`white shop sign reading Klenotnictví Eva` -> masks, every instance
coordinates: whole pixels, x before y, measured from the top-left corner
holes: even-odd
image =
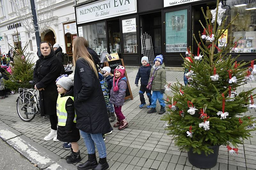
[[[137,0],[101,0],[76,7],[77,24],[137,12]]]

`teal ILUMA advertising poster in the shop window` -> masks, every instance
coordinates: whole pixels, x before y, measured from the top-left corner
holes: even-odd
[[[187,9],[165,13],[166,53],[187,50],[187,25]]]

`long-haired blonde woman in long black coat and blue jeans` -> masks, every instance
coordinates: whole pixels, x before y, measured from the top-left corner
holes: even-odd
[[[102,134],[112,131],[108,120],[108,111],[101,90],[98,70],[92,56],[86,49],[88,42],[84,37],[73,40],[73,64],[76,65],[74,74],[74,105],[76,110],[76,127],[84,138],[87,147],[88,160],[77,169],[108,168],[107,153]],[[99,164],[95,155],[95,146],[99,152]]]

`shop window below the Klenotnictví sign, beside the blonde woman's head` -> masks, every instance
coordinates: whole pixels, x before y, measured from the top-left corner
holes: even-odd
[[[105,22],[83,26],[83,35],[98,55],[107,51],[107,37]]]

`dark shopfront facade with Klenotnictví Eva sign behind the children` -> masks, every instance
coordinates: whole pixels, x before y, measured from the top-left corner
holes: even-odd
[[[227,42],[232,37],[237,40],[237,61],[250,61],[256,54],[256,0],[224,0],[226,9],[222,21],[228,16],[228,23],[240,15],[223,35]],[[201,7],[207,18],[212,18],[211,10],[216,8],[216,0],[77,0],[75,6],[76,25],[79,36],[89,42],[100,55],[103,51],[118,53],[125,65],[139,66],[143,53],[149,52],[152,39],[154,56],[163,54],[169,67],[181,67],[188,46],[196,53],[197,45],[193,34],[199,39],[203,33],[199,20],[205,26]],[[207,10],[209,6],[209,10]],[[141,35],[146,44],[141,43]],[[207,44],[207,43],[206,43]],[[210,43],[209,43],[210,44]],[[218,43],[219,48],[227,45]],[[145,48],[142,48],[145,47]]]

